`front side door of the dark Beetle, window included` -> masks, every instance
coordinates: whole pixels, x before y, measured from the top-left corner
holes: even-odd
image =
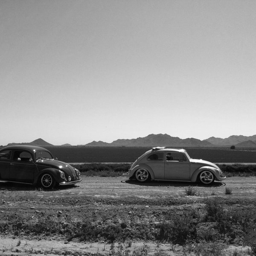
[[[28,151],[14,151],[10,163],[9,180],[22,183],[33,183],[37,170],[32,155]]]

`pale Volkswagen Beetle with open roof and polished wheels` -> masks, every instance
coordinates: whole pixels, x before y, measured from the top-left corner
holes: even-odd
[[[192,159],[185,149],[152,148],[140,156],[126,176],[139,182],[148,180],[177,180],[209,185],[226,177],[214,163]]]

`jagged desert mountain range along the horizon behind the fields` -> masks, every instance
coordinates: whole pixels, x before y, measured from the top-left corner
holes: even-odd
[[[9,145],[35,145],[35,146],[54,146],[43,139],[37,139],[30,143],[9,143]],[[70,144],[63,144],[61,146],[71,146]],[[93,141],[85,145],[77,145],[83,147],[152,147],[152,146],[166,146],[166,147],[230,147],[236,148],[256,148],[256,135],[243,136],[232,135],[228,138],[210,137],[206,140],[198,140],[195,138],[180,139],[179,137],[172,137],[168,134],[149,134],[146,137],[139,137],[137,139],[119,139],[112,143],[103,141]]]

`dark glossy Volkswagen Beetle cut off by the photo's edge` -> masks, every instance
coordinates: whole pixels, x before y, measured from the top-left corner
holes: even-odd
[[[31,145],[7,146],[0,151],[0,180],[38,185],[72,185],[81,181],[78,169],[54,160],[50,151]]]

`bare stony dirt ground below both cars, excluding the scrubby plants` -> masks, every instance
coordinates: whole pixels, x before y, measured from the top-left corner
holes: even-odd
[[[195,196],[186,195],[185,189],[189,186],[195,188]],[[225,193],[226,188],[232,190],[230,195]],[[201,209],[208,197],[221,198],[226,207],[241,212],[248,207],[256,208],[256,177],[229,177],[225,183],[215,182],[213,186],[157,181],[144,184],[125,177],[84,177],[75,186],[49,191],[0,183],[0,255],[113,255],[113,244],[107,241],[67,240],[64,233],[35,235],[26,233],[22,228],[15,232],[9,227],[15,223],[17,226],[24,225],[19,224],[21,219],[32,222],[44,216],[70,219],[74,223],[83,221],[87,216],[92,216],[99,223],[117,217],[119,221],[127,221],[128,218],[154,221],[166,211],[180,212],[181,208],[186,207]],[[247,234],[243,243],[228,244],[226,255],[231,255],[230,252],[235,250],[247,251],[247,242],[252,239],[255,239],[255,232]],[[160,244],[143,237],[140,241],[131,240],[129,250],[132,252],[145,245],[150,255],[160,255],[160,252],[165,255],[185,255],[182,246]],[[120,244],[115,243],[114,246],[118,248]]]

